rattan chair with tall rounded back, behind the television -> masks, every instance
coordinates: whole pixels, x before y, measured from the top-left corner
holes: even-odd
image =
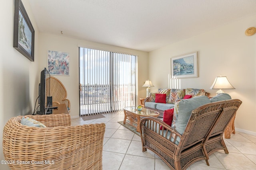
[[[49,92],[50,81],[50,92]],[[66,99],[67,91],[65,86],[55,77],[46,78],[46,92],[45,95],[52,96],[52,104],[66,104],[68,110],[70,110],[70,101]]]

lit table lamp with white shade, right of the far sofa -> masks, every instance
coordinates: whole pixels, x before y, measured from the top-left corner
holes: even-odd
[[[218,76],[215,78],[210,89],[219,89],[216,92],[216,94],[218,95],[218,94],[224,93],[222,89],[235,89],[235,88],[230,84],[226,76]]]

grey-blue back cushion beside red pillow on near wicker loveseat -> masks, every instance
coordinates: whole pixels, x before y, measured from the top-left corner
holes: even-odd
[[[174,105],[172,128],[176,129],[176,131],[182,135],[192,110],[208,103],[210,103],[210,99],[206,96],[198,96],[189,100],[177,101]]]

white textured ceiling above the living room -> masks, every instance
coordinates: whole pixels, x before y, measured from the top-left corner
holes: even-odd
[[[256,0],[29,0],[40,32],[152,51],[256,14]],[[247,27],[256,26],[256,23]]]

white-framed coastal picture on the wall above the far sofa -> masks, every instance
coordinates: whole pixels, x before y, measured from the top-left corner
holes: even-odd
[[[171,78],[197,77],[197,51],[171,58]]]

